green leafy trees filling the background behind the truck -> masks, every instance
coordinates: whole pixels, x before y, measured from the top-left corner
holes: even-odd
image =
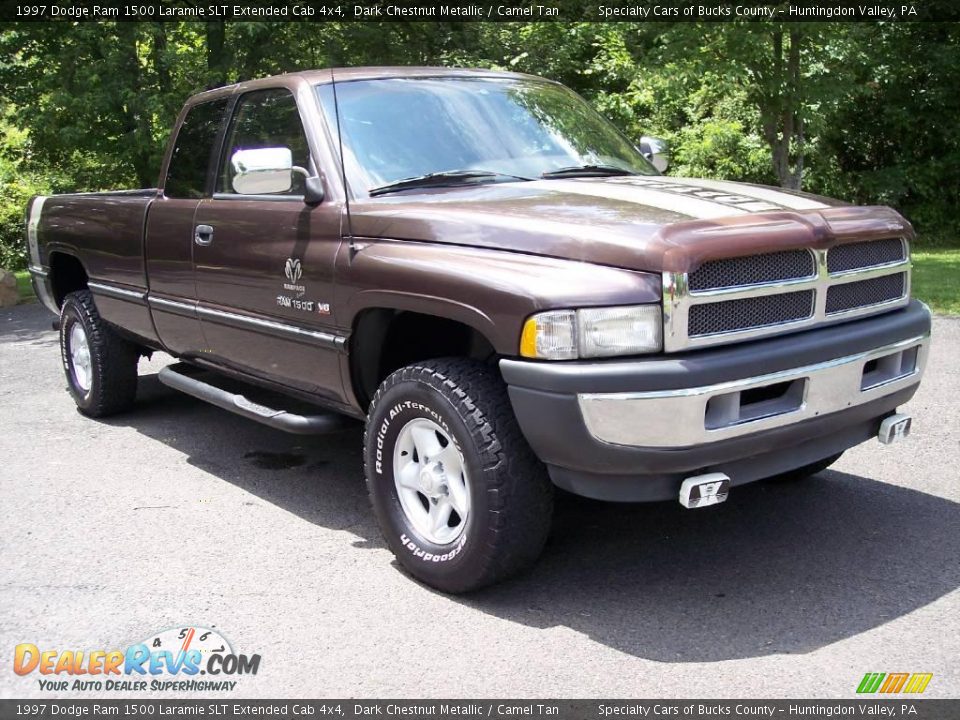
[[[183,100],[311,67],[459,65],[556,79],[671,173],[890,204],[960,230],[955,23],[6,23],[0,263],[37,192],[151,186]]]

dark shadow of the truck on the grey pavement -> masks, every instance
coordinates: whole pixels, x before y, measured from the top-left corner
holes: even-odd
[[[359,425],[319,438],[285,435],[155,376],[141,381],[136,411],[110,424],[303,520],[349,530],[355,547],[383,547]],[[735,488],[724,505],[699,511],[560,494],[550,542],[530,573],[450,601],[530,627],[567,627],[660,662],[806,653],[960,586],[958,527],[957,503],[836,471]]]

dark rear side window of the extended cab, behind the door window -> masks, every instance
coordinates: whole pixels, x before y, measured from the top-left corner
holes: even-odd
[[[194,105],[180,125],[170,156],[163,192],[172,198],[202,198],[207,191],[207,172],[214,159],[217,134],[227,110],[228,98]]]

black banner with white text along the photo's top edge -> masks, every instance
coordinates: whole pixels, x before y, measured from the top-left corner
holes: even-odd
[[[20,22],[929,22],[960,21],[952,0],[0,0]]]

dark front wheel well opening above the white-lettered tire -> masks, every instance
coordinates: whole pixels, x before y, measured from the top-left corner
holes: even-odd
[[[366,408],[380,383],[405,365],[438,357],[490,360],[495,355],[489,340],[456,320],[385,308],[367,310],[350,337],[353,390]]]

